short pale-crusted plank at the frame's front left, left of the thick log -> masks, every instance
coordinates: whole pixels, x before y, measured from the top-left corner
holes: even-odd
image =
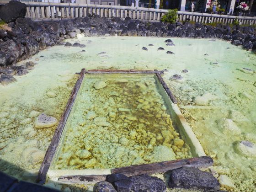
[[[79,183],[84,181],[105,181],[107,175],[80,175],[80,176],[61,176],[58,181]]]

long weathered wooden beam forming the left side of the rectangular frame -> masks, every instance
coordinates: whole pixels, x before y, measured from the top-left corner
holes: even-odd
[[[43,163],[42,163],[42,165],[40,167],[40,170],[38,172],[37,183],[39,183],[39,184],[43,184],[46,181],[47,171],[50,167],[51,161],[53,160],[53,156],[55,154],[55,151],[56,151],[56,149],[59,145],[59,140],[61,138],[61,134],[63,132],[63,129],[65,127],[67,119],[69,117],[69,113],[70,113],[70,111],[73,107],[77,92],[80,88],[80,85],[81,85],[83,79],[84,79],[84,75],[85,75],[85,69],[82,69],[81,72],[80,72],[80,77],[76,81],[75,87],[73,88],[73,91],[71,92],[71,95],[69,96],[69,101],[67,102],[64,113],[62,114],[62,116],[60,118],[58,127],[55,130],[55,133],[53,135],[53,139],[51,141],[51,144],[49,145],[49,147],[46,151],[46,154],[45,154],[44,159],[43,159]]]

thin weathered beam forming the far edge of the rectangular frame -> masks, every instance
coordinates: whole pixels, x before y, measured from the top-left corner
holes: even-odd
[[[106,73],[106,74],[110,74],[110,73],[138,73],[138,74],[163,74],[164,71],[152,71],[152,70],[105,70],[105,69],[92,69],[92,70],[88,70],[85,73],[88,74],[94,74],[94,73]]]

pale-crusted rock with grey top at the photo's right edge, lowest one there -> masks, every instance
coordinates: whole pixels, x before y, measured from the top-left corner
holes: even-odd
[[[240,141],[235,145],[235,151],[240,155],[256,157],[256,145],[250,141]]]

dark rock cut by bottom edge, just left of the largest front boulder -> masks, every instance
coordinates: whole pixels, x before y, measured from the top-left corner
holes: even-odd
[[[165,192],[165,182],[155,176],[131,176],[133,192]]]

